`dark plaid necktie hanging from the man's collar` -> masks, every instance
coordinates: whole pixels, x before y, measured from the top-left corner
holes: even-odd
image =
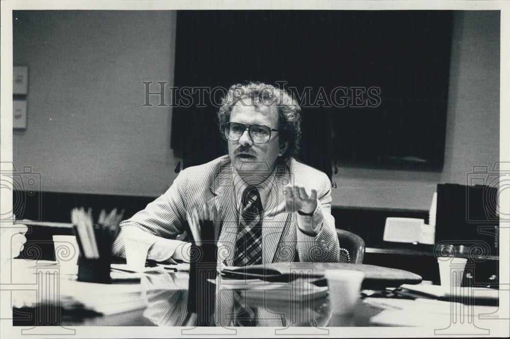
[[[234,266],[262,264],[263,210],[256,186],[248,186],[244,190],[242,206]]]

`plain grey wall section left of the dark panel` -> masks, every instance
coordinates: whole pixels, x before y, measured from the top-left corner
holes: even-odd
[[[16,168],[41,173],[44,191],[163,193],[171,109],[142,107],[142,82],[172,85],[175,23],[174,11],[15,12],[13,62],[30,72]]]

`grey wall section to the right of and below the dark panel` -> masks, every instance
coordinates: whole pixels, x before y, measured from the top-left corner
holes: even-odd
[[[339,168],[335,205],[428,210],[438,183],[468,183],[473,166],[491,170],[499,159],[498,11],[458,11],[453,36],[440,173]]]

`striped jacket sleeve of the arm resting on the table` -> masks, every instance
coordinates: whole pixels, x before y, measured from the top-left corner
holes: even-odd
[[[150,247],[159,238],[175,239],[179,234],[182,234],[185,230],[185,223],[187,223],[187,181],[187,171],[184,170],[175,178],[172,186],[163,195],[149,203],[144,210],[132,218],[122,221],[120,232],[112,246],[112,254],[120,257],[125,256],[124,240],[126,238],[139,239]],[[140,230],[144,233],[141,233]]]

